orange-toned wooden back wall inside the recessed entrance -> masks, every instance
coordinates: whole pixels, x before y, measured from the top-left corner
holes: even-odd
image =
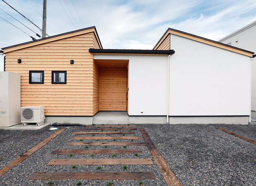
[[[126,68],[99,68],[100,110],[126,110]]]

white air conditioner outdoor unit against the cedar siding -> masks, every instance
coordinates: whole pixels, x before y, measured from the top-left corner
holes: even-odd
[[[44,107],[21,107],[20,112],[23,126],[28,125],[28,123],[37,123],[37,126],[43,125]]]

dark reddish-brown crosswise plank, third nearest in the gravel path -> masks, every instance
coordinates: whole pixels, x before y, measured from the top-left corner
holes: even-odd
[[[51,154],[142,154],[141,150],[129,149],[56,149]]]

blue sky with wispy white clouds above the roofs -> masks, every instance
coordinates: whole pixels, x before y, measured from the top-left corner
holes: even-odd
[[[42,27],[43,0],[5,1],[40,28]],[[41,35],[37,27],[28,23],[2,1],[0,8]],[[28,35],[39,39],[35,33],[2,10],[0,10],[1,17]],[[31,40],[28,35],[1,17],[0,48]],[[168,27],[219,40],[253,21],[256,21],[256,0],[48,0],[47,2],[49,36],[96,26],[104,49],[152,49]],[[3,56],[0,56],[1,70],[3,70]]]

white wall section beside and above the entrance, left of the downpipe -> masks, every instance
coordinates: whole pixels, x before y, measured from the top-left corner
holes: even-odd
[[[93,59],[129,59],[128,114],[139,116],[166,115],[167,57],[93,54]]]

